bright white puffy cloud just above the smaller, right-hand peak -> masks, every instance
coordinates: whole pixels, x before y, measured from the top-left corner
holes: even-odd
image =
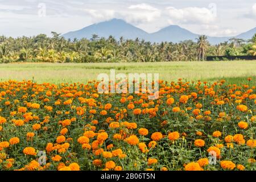
[[[167,14],[169,22],[174,24],[209,24],[216,20],[216,13],[205,7],[185,7],[184,9],[167,7]]]

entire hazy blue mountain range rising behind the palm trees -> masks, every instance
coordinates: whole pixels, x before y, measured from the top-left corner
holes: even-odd
[[[100,37],[108,38],[110,35],[114,36],[114,38],[119,39],[121,36],[124,39],[144,39],[150,42],[173,42],[177,43],[184,40],[193,40],[195,41],[198,38],[199,34],[194,34],[191,31],[186,30],[185,28],[181,28],[176,25],[171,25],[161,30],[154,32],[152,34],[147,33],[146,31],[141,30],[129,23],[126,23],[122,19],[112,19],[106,22],[92,24],[88,27],[82,28],[81,30],[68,32],[67,34],[63,34],[62,36],[65,39],[74,38],[77,39],[90,39],[92,35],[96,34]],[[208,36],[208,40],[210,44],[218,44],[221,42],[228,41],[230,38],[240,38],[240,39],[251,39],[253,35],[256,34],[256,27],[244,32],[240,35],[234,37],[213,37]]]

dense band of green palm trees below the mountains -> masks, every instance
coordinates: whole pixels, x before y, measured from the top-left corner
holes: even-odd
[[[116,40],[113,36],[105,39],[97,35],[92,35],[90,40],[65,40],[56,32],[52,32],[52,38],[44,34],[30,38],[0,36],[0,63],[195,61],[204,60],[207,55],[256,55],[256,34],[249,41],[233,38],[215,46],[210,45],[204,35],[195,41],[157,44],[139,39]]]

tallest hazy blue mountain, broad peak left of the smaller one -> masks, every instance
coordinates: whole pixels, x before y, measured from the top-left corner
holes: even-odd
[[[92,24],[88,27],[82,28],[81,30],[68,32],[64,34],[64,38],[73,40],[74,38],[92,38],[92,35],[96,34],[100,37],[108,38],[110,35],[114,38],[119,39],[123,36],[125,39],[136,39],[144,38],[147,36],[147,32],[134,27],[133,25],[126,23],[121,19],[112,19],[107,22],[101,22]]]

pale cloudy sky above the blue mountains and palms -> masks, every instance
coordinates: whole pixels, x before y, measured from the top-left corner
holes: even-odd
[[[233,36],[256,27],[255,0],[0,0],[0,35],[66,33],[112,18],[147,32],[177,24]]]

